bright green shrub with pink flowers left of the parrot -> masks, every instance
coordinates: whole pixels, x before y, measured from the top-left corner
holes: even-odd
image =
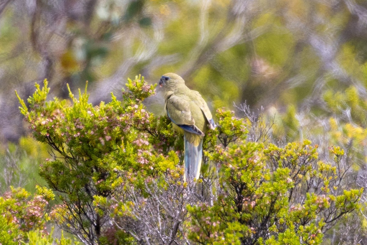
[[[124,191],[127,183],[142,189],[179,162],[167,120],[154,117],[142,104],[154,94],[155,85],[137,76],[126,86],[124,100],[111,94],[111,102],[97,106],[88,102],[87,86],[78,96],[68,87],[70,100],[47,102],[47,80],[42,88],[36,84],[29,108],[18,97],[35,138],[52,149],[50,159],[40,166],[40,176],[61,200],[51,216],[91,243],[101,235],[99,222],[109,216],[112,203],[107,197]],[[162,148],[171,153],[163,155]],[[37,192],[47,201],[54,199],[49,189],[37,187]]]

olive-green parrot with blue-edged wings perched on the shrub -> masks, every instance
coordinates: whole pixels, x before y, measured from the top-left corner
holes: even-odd
[[[175,73],[164,74],[159,85],[164,89],[164,110],[175,131],[183,134],[184,178],[199,179],[204,133],[207,125],[215,128],[208,105],[199,92],[186,87],[182,77]]]

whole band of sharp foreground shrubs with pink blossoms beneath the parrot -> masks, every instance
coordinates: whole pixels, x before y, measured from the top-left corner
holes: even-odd
[[[83,244],[321,244],[363,206],[343,149],[324,152],[306,139],[276,145],[272,121],[244,107],[245,118],[217,110],[202,174],[190,183],[182,136],[142,103],[155,85],[136,77],[123,100],[112,94],[98,106],[87,91],[47,101],[47,85],[36,84],[28,105],[19,98],[34,137],[50,146],[39,168],[47,188],[1,198],[1,243],[51,244],[44,225],[52,221]]]

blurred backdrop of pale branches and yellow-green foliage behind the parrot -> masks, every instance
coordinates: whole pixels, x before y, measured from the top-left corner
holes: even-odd
[[[44,78],[63,98],[66,83],[88,80],[95,104],[127,77],[175,72],[213,110],[246,100],[273,114],[340,114],[348,105],[333,99],[345,91],[364,110],[366,16],[359,0],[3,0],[0,136],[26,133],[13,91],[27,97]],[[163,114],[162,100],[148,107]]]

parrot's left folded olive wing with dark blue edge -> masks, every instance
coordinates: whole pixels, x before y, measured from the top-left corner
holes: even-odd
[[[189,133],[204,135],[204,133],[195,126],[195,120],[191,115],[188,98],[172,94],[167,98],[166,111],[167,116],[178,127]]]

